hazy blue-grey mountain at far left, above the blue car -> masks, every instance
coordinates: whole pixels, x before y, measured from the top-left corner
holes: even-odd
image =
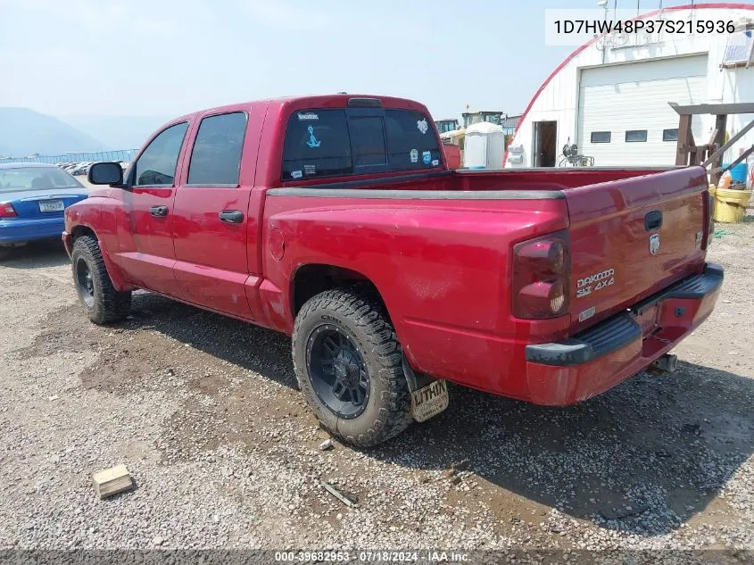
[[[0,157],[103,149],[110,147],[52,116],[29,108],[0,108]]]

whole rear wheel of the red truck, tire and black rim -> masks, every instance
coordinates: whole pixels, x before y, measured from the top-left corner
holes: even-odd
[[[371,447],[409,427],[401,345],[369,295],[337,288],[312,297],[296,316],[293,356],[306,402],[334,436]]]

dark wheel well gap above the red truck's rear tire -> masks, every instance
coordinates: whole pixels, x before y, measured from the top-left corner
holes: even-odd
[[[357,286],[373,295],[382,305],[385,315],[388,316],[388,319],[390,318],[385,301],[375,284],[356,270],[333,265],[303,265],[296,270],[292,285],[294,316],[298,314],[303,304],[314,295],[319,295],[319,293],[331,288]]]

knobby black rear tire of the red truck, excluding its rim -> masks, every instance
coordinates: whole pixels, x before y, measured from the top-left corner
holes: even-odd
[[[369,399],[352,419],[339,418],[316,394],[307,366],[307,347],[316,328],[335,325],[356,344],[369,375]],[[322,426],[345,443],[371,447],[397,436],[413,421],[401,345],[382,305],[368,293],[336,288],[313,296],[296,316],[294,370],[306,402]]]

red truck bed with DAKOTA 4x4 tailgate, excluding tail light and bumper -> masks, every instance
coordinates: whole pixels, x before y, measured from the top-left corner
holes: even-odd
[[[290,331],[285,273],[327,254],[374,282],[416,370],[527,398],[497,365],[513,350],[568,339],[704,270],[706,191],[701,168],[443,171],[273,188],[265,231],[297,243],[266,262],[261,303]],[[659,226],[645,225],[658,213]],[[558,230],[569,242],[568,313],[519,319],[512,247]]]

